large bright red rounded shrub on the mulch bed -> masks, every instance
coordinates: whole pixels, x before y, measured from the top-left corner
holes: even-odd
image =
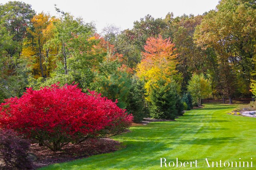
[[[118,134],[132,115],[96,92],[81,92],[77,85],[53,84],[40,90],[28,88],[21,98],[0,106],[0,129],[13,129],[52,150],[69,142]]]

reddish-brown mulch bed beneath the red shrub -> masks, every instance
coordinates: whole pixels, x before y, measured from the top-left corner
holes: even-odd
[[[46,147],[32,144],[30,152],[35,154],[38,159],[33,162],[33,169],[47,166],[54,163],[67,162],[79,158],[86,158],[95,154],[114,152],[123,148],[118,141],[109,138],[88,139],[79,145],[68,144],[62,150],[53,152]],[[0,170],[9,170],[0,160]]]

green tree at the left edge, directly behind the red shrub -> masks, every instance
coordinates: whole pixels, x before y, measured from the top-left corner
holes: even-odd
[[[15,59],[6,51],[13,45],[12,36],[6,27],[0,27],[0,103],[5,98],[20,96],[27,86],[26,60]]]

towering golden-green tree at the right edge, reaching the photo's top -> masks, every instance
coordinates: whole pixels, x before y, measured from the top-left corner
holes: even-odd
[[[197,27],[194,39],[202,49],[213,48],[220,74],[219,92],[248,94],[255,53],[255,2],[222,0]]]

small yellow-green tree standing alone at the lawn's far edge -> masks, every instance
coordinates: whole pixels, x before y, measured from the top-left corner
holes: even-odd
[[[188,82],[188,92],[200,107],[202,99],[209,97],[212,92],[210,82],[203,75],[193,74]]]

